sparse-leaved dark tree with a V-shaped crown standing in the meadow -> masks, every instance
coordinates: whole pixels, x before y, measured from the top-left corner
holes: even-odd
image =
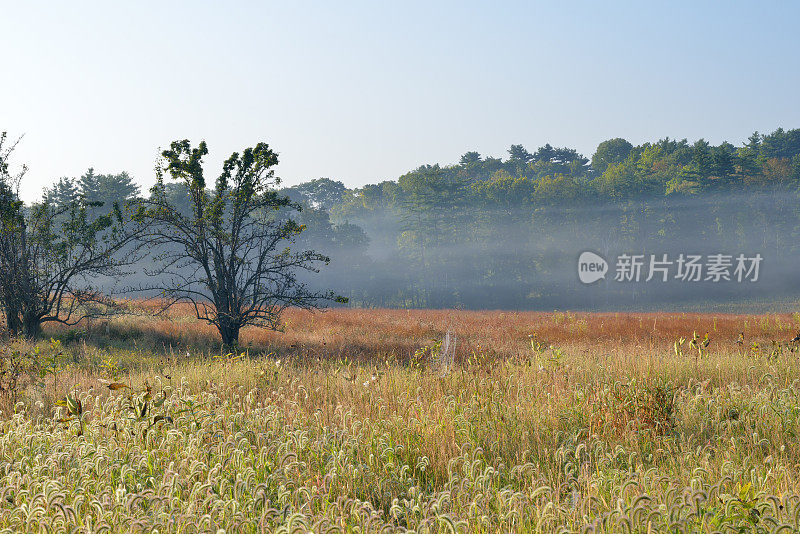
[[[140,289],[157,291],[162,310],[191,303],[228,348],[247,325],[278,328],[288,306],[346,302],[332,292],[311,291],[297,277],[330,260],[289,248],[304,227],[286,215],[300,205],[274,190],[277,154],[266,143],[234,153],[209,190],[202,166],[207,153],[205,142],[193,148],[187,140],[162,152],[157,182],[137,215],[148,226],[148,247],[158,251],[157,268],[148,274],[160,282]],[[165,176],[184,187],[188,206],[168,194]]]

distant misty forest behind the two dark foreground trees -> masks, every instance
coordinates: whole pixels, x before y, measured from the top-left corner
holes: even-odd
[[[190,209],[185,186],[166,183],[165,193]],[[800,129],[756,132],[741,146],[615,138],[591,159],[550,144],[511,145],[503,158],[468,151],[455,164],[363,187],[318,178],[279,193],[302,206],[285,213],[304,225],[295,246],[331,260],[305,281],[351,306],[669,309],[799,296]],[[90,169],[61,178],[45,198],[110,206],[147,194],[125,173]],[[575,262],[584,250],[764,260],[754,284],[608,277],[583,286]]]

